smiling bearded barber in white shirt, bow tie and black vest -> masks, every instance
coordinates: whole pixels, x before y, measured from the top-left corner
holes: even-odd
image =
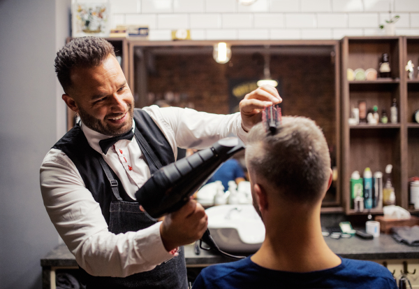
[[[163,222],[149,220],[135,192],[174,162],[177,146],[206,148],[235,134],[245,141],[265,106],[281,101],[274,87],[247,94],[240,113],[188,108],[134,108],[112,45],[76,38],[55,59],[62,99],[80,123],[41,165],[45,209],[82,268],[87,288],[187,288],[183,245],[202,237],[207,216],[190,200]]]

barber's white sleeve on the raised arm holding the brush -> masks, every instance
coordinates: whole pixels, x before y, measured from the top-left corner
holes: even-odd
[[[247,132],[242,128],[240,113],[217,115],[191,108],[149,106],[145,111],[156,121],[170,143],[179,148],[203,149],[230,134],[246,143]]]

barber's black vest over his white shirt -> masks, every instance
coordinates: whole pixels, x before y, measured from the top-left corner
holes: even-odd
[[[172,147],[166,136],[164,136],[148,113],[135,108],[134,121],[135,129],[138,129],[144,136],[163,167],[166,164],[175,162],[175,155],[173,155]],[[99,158],[102,158],[102,155],[91,148],[79,125],[75,125],[52,148],[61,150],[73,161],[82,176],[84,185],[86,185],[95,201],[101,206],[102,214],[109,225],[110,202],[115,200],[115,197],[112,194],[108,178],[106,178],[105,172],[99,163]],[[151,174],[154,174],[157,170],[153,165],[149,165],[149,169]],[[126,202],[135,202],[126,194],[117,175],[112,170],[111,173],[113,178],[118,181],[119,195],[121,195],[122,199]]]

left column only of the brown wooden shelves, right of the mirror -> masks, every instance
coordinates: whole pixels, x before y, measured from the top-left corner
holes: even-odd
[[[404,96],[402,37],[344,37],[341,41],[341,192],[342,205],[348,215],[382,214],[382,209],[355,212],[351,208],[350,179],[353,171],[362,175],[369,167],[372,172],[385,170],[387,164],[392,164],[392,183],[395,187],[397,205],[404,205],[404,185],[406,178],[404,170],[406,124],[403,111],[406,106]],[[383,53],[390,55],[392,78],[377,80],[348,81],[347,69],[369,69],[378,71],[378,64]],[[348,125],[351,108],[358,107],[358,101],[367,101],[367,108],[378,106],[378,112],[384,108],[390,119],[392,99],[397,99],[399,122],[396,124],[378,123],[377,125]]]

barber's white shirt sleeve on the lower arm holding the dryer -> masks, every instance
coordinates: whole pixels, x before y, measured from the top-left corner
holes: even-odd
[[[109,232],[99,204],[61,150],[50,150],[40,172],[47,213],[78,265],[89,274],[129,276],[173,257],[161,241],[160,223],[138,232]]]

